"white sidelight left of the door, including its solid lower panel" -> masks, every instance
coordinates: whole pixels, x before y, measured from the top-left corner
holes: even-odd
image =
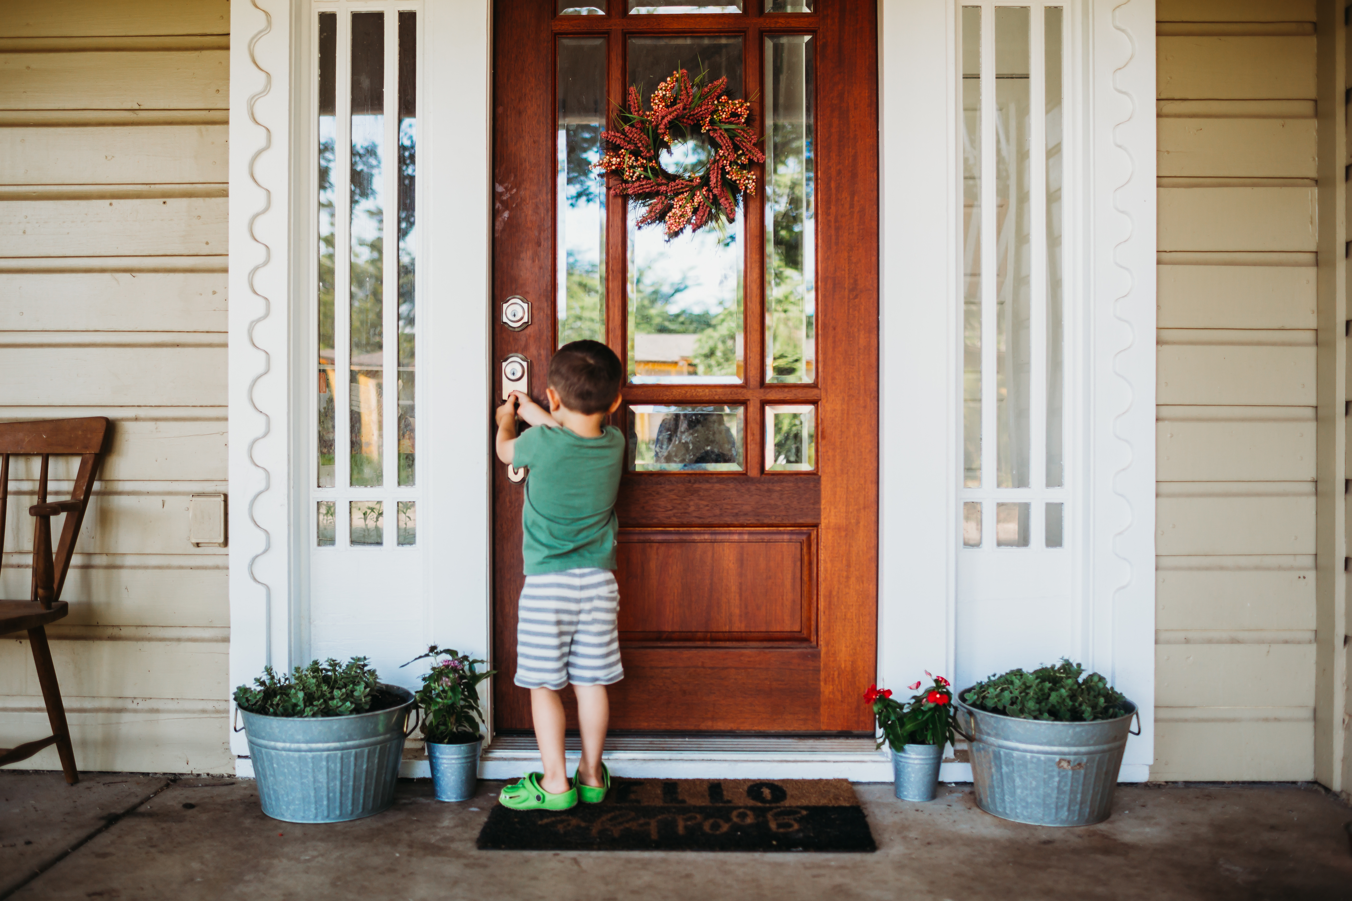
[[[384,674],[422,634],[418,607],[397,602],[420,594],[425,507],[419,7],[324,0],[311,16],[310,654],[370,654]],[[354,631],[380,598],[392,601],[372,617],[381,635]],[[400,624],[402,609],[415,621]]]

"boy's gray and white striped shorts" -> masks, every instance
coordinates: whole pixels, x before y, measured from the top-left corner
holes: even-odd
[[[611,685],[619,663],[619,585],[595,567],[527,575],[516,608],[516,685]]]

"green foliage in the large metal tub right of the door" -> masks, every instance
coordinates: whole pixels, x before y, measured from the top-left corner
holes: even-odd
[[[1126,715],[1126,697],[1098,673],[1061,658],[1056,666],[1032,673],[1010,670],[991,675],[963,693],[963,701],[977,711],[1002,713],[1021,720],[1090,723]]]

